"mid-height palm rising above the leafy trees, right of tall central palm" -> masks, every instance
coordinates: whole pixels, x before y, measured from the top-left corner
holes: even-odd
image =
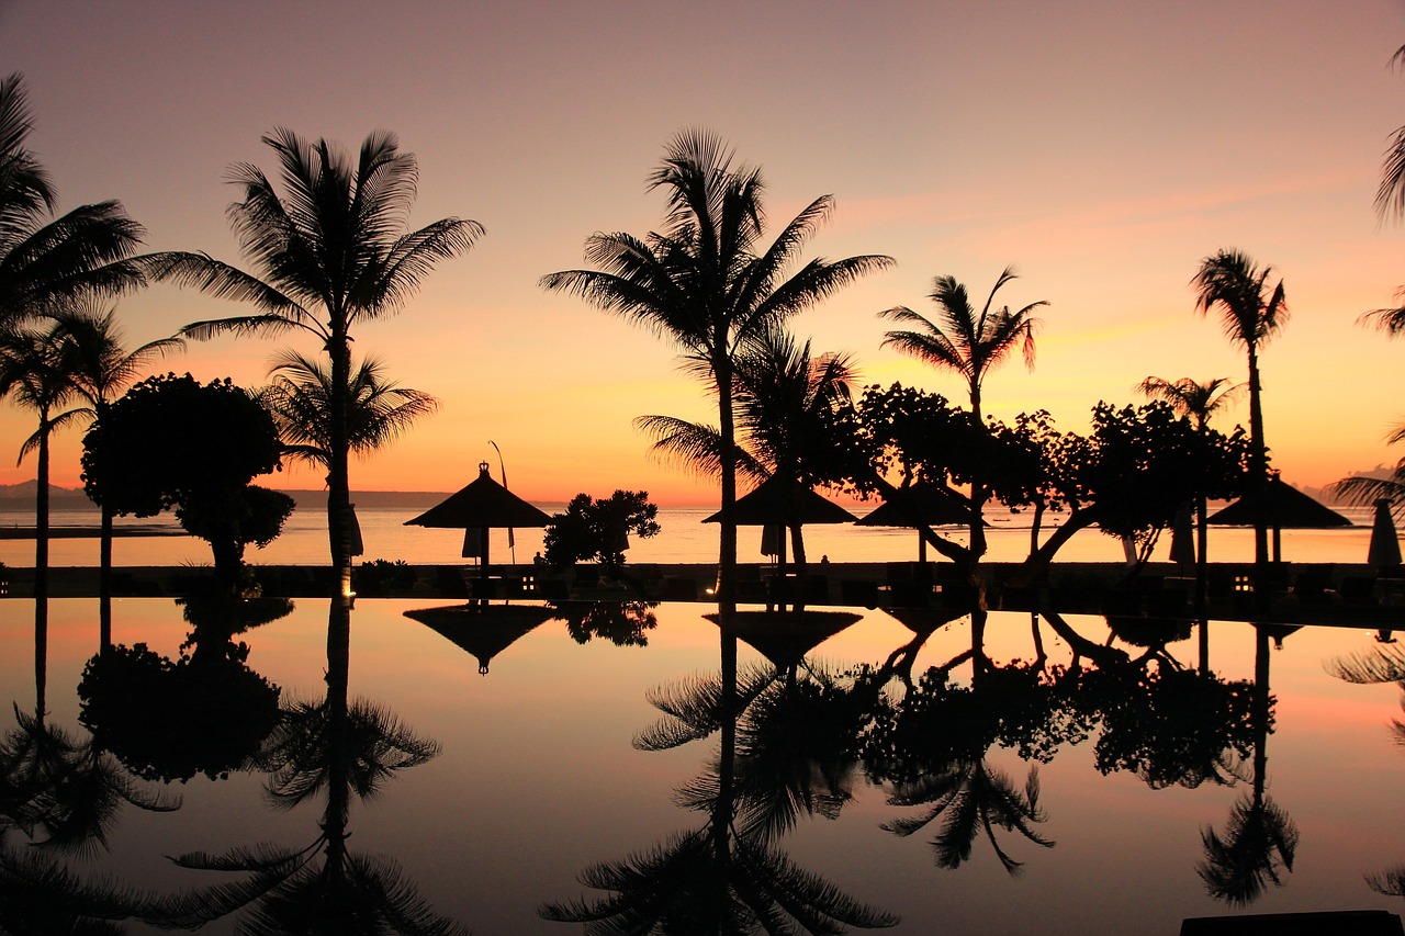
[[[981,389],[986,374],[1003,364],[1017,346],[1024,353],[1026,367],[1034,368],[1034,333],[1041,325],[1040,319],[1034,318],[1034,311],[1048,302],[1040,299],[1016,311],[1010,311],[1009,306],[992,308],[995,294],[1014,278],[1014,268],[1006,267],[979,312],[971,305],[965,285],[957,282],[955,277],[941,275],[933,281],[930,297],[937,304],[937,322],[906,306],[878,313],[881,318],[915,326],[915,330],[888,332],[884,336],[884,347],[891,344],[933,367],[955,371],[965,378],[971,398],[971,423],[976,431],[986,431],[981,412]],[[972,565],[985,554],[985,523],[981,516],[985,499],[985,483],[979,476],[974,476],[971,479]]]

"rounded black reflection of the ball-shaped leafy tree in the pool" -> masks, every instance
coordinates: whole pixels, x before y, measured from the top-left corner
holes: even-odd
[[[211,780],[243,769],[278,721],[278,687],[242,654],[171,661],[146,644],[111,646],[79,683],[79,721],[146,780]]]

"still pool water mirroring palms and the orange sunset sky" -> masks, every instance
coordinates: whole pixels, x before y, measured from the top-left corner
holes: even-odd
[[[329,894],[566,933],[547,918],[621,891],[701,919],[787,883],[903,933],[1405,909],[1370,885],[1405,864],[1401,689],[1338,673],[1405,656],[1364,628],[122,599],[89,666],[98,602],[51,600],[38,656],[35,611],[0,604],[6,864],[38,853],[112,905],[191,895],[205,933]],[[37,736],[146,808],[60,824],[67,794],[13,759]]]

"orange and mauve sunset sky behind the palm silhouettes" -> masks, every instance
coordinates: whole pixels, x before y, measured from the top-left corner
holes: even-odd
[[[1383,437],[1405,419],[1405,343],[1356,319],[1405,282],[1405,229],[1371,209],[1405,124],[1405,74],[1388,69],[1402,42],[1405,6],[1387,0],[0,0],[0,70],[25,74],[31,145],[62,207],[119,198],[153,250],[240,260],[223,173],[271,169],[259,138],[275,125],[348,146],[395,131],[420,159],[412,222],[458,215],[488,235],[355,336],[443,406],[354,465],[353,486],[452,490],[496,464],[493,440],[511,486],[542,500],[642,488],[715,502],[631,424],[710,415],[673,350],[537,287],[580,266],[593,230],[659,223],[645,177],[686,126],[764,169],[776,225],[835,195],[811,256],[896,259],[792,323],[816,350],[854,354],[865,381],[960,398],[953,375],[880,349],[875,313],[929,312],[936,274],[984,294],[1009,263],[1021,278],[1005,298],[1051,306],[1035,371],[989,378],[993,416],[1044,408],[1086,430],[1093,403],[1135,402],[1148,375],[1245,379],[1187,285],[1201,257],[1236,247],[1279,270],[1293,309],[1263,353],[1284,476],[1316,486],[1394,464]],[[167,287],[118,308],[132,343],[243,311]],[[198,344],[170,368],[254,385],[278,347]],[[0,454],[30,431],[0,406]],[[59,438],[55,482],[79,483],[77,451],[79,433]],[[3,462],[0,483],[34,474]]]

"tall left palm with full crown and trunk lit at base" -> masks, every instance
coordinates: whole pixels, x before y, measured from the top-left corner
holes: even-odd
[[[395,135],[365,138],[357,160],[325,139],[288,129],[263,138],[281,169],[281,188],[250,163],[230,170],[243,201],[230,225],[260,275],[195,253],[149,257],[155,278],[250,302],[254,315],[194,322],[181,334],[306,332],[327,356],[327,537],[339,592],[351,589],[350,479],[351,330],[395,313],[440,260],[457,257],[483,233],[476,221],[443,218],[403,232],[414,202],[417,164]]]

